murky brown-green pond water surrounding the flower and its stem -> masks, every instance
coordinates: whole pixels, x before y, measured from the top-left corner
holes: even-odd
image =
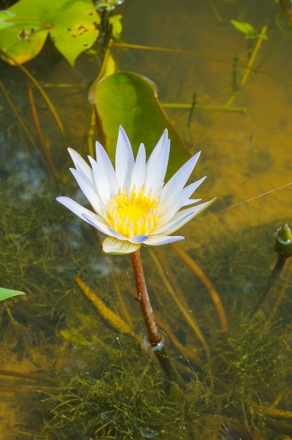
[[[122,13],[123,41],[197,56],[117,48],[120,69],[152,79],[161,102],[191,104],[196,91],[199,105],[215,108],[233,96],[234,56],[238,84],[251,59],[245,36],[230,20],[258,32],[268,23],[268,40],[230,105],[247,108],[246,115],[195,108],[187,128],[189,110],[167,110],[192,153],[202,150],[199,176],[208,179],[201,198],[218,196],[212,212],[184,228],[180,248],[191,261],[171,246],[142,250],[161,334],[186,389],[167,384],[140,344],[144,330],[128,257],[102,254],[93,228],[55,202],[77,191],[66,142],[36,94],[55,179],[36,140],[25,77],[1,62],[4,89],[38,148],[2,93],[0,285],[27,295],[1,304],[0,437],[291,438],[289,260],[255,311],[277,261],[274,232],[291,223],[291,25],[272,0],[129,1]],[[55,105],[69,145],[83,155],[91,117],[87,91],[100,67],[92,57],[81,56],[72,70],[48,44],[26,65]],[[74,285],[75,275],[135,337],[97,315]]]

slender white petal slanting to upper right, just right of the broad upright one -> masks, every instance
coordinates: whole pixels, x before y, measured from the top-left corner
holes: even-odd
[[[191,157],[187,162],[185,162],[185,164],[183,164],[183,167],[180,167],[180,169],[178,169],[178,171],[173,174],[171,179],[169,179],[169,181],[164,185],[164,188],[161,191],[162,200],[166,200],[173,193],[177,193],[185,186],[185,183],[187,183],[187,179],[189,179],[190,175],[192,174],[194,166],[197,164],[200,154],[201,151]],[[198,182],[199,186],[201,184],[201,181]]]

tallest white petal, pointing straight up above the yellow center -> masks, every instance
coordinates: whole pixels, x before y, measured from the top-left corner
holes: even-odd
[[[117,180],[120,189],[122,189],[124,185],[128,186],[130,184],[134,163],[131,143],[123,127],[120,126],[115,160]],[[129,190],[129,188],[127,188],[127,190]]]

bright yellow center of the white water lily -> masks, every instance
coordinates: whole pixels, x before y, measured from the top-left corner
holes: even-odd
[[[152,199],[151,191],[145,194],[142,187],[136,193],[134,188],[128,198],[124,188],[110,198],[110,218],[107,221],[124,237],[148,235],[157,223],[159,208],[160,198]]]

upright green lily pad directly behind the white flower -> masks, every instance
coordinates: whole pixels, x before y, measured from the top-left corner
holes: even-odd
[[[95,105],[104,135],[102,143],[106,144],[104,146],[112,162],[119,125],[128,134],[134,154],[142,142],[145,144],[147,157],[164,129],[168,129],[171,138],[168,178],[190,159],[190,153],[168,120],[157,98],[157,89],[149,79],[132,72],[114,73],[93,84],[89,100]]]

